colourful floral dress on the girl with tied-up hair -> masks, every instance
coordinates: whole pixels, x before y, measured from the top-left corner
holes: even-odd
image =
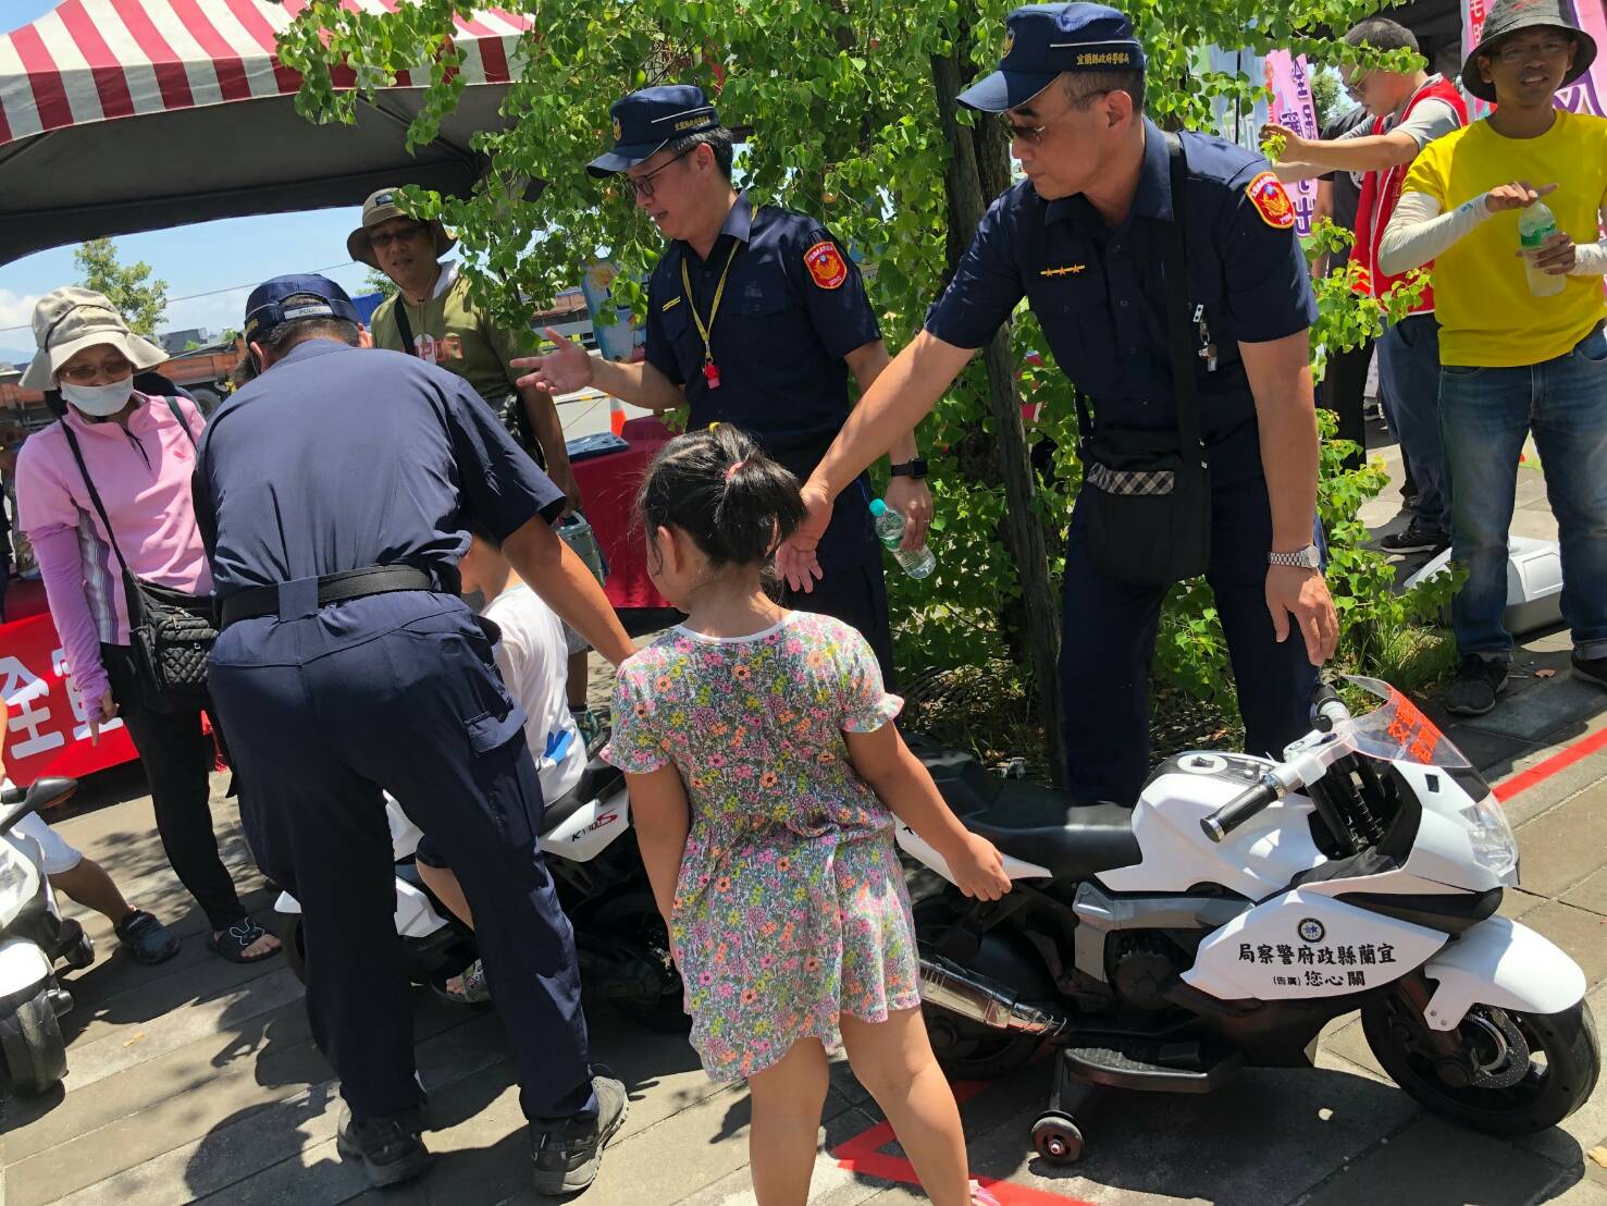
[[[805,611],[752,637],[673,629],[620,666],[603,756],[627,772],[673,764],[686,785],[670,937],[717,1081],[799,1039],[837,1050],[839,1013],[885,1021],[919,1003],[892,815],[844,740],[902,708],[865,638]]]

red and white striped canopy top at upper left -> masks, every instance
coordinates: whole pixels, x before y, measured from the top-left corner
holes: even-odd
[[[407,0],[342,0],[384,13]],[[85,122],[294,95],[301,76],[275,56],[309,0],[63,0],[0,35],[0,146]],[[453,39],[469,84],[508,84],[529,18],[487,8]],[[513,66],[511,66],[513,64]],[[350,69],[336,72],[352,85]],[[424,87],[427,69],[399,87]]]

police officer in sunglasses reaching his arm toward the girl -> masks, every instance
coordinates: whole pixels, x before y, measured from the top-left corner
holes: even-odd
[[[1093,400],[1094,434],[1175,433],[1162,262],[1173,217],[1165,135],[1143,114],[1144,55],[1104,5],[1017,8],[1000,71],[959,100],[1006,113],[1027,180],[1004,191],[922,330],[861,399],[805,486],[810,519],[783,550],[802,584],[831,500],[918,423],[1025,296],[1054,359]],[[1316,317],[1287,196],[1257,154],[1181,135],[1194,379],[1210,465],[1207,579],[1233,656],[1247,748],[1306,732],[1337,621],[1313,542]],[[1175,447],[1175,442],[1173,442]],[[1165,587],[1094,566],[1078,500],[1061,646],[1070,786],[1131,801],[1149,762],[1147,679]],[[829,580],[829,574],[828,574]]]

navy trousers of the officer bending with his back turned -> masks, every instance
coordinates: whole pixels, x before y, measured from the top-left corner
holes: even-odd
[[[262,870],[302,905],[313,1039],[358,1119],[421,1100],[395,933],[389,791],[474,912],[529,1118],[596,1110],[574,933],[537,849],[542,790],[492,640],[452,595],[399,592],[219,635],[211,685]]]

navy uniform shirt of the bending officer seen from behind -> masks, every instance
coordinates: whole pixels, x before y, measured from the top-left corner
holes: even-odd
[[[196,471],[220,597],[399,563],[445,585],[469,518],[501,540],[562,507],[463,378],[331,339],[297,344],[230,397]]]

